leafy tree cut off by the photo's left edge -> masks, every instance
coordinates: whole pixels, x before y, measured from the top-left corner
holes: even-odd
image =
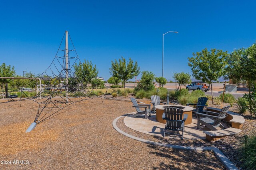
[[[5,63],[2,63],[2,65],[0,66],[0,77],[14,77],[14,76],[16,76],[14,66],[11,67],[11,65],[6,65]],[[0,90],[1,88],[4,90],[4,85],[9,82],[11,82],[10,79],[0,79]]]

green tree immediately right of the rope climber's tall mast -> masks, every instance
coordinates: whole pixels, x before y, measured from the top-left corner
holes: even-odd
[[[92,61],[89,62],[86,60],[84,60],[84,63],[80,63],[78,65],[75,63],[74,69],[78,82],[85,84],[85,86],[87,86],[93,78],[96,78],[99,72],[96,65],[92,65]]]

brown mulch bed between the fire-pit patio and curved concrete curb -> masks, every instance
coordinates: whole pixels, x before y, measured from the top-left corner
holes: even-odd
[[[228,104],[226,104],[228,105]],[[212,105],[210,104],[209,107],[216,107],[220,108],[218,105]],[[230,111],[238,113],[238,109],[236,106],[233,106],[230,108]],[[153,137],[151,135],[147,135],[144,133],[140,133],[137,131],[134,131],[130,128],[127,128],[124,125],[123,119],[120,119],[118,121],[118,127],[125,131],[126,133],[129,133],[131,135],[134,135],[136,137],[140,137],[143,139],[160,142],[160,143],[166,143],[166,144],[172,144],[172,145],[182,145],[182,146],[194,146],[194,147],[217,147],[220,149],[224,154],[237,166],[238,169],[243,169],[243,161],[242,161],[242,147],[244,145],[244,135],[252,135],[256,134],[256,119],[249,116],[249,113],[246,113],[245,115],[242,115],[245,118],[245,122],[242,126],[242,131],[236,135],[231,135],[224,137],[218,141],[212,141],[208,142],[206,140],[181,140],[181,139],[171,139],[171,138],[163,138],[163,137]],[[226,122],[223,122],[226,123]],[[231,125],[230,125],[231,127]]]

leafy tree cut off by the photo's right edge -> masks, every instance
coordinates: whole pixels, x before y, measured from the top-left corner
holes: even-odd
[[[253,109],[254,95],[251,93],[252,86],[256,84],[256,43],[247,49],[235,49],[227,58],[228,66],[226,73],[228,78],[233,80],[246,80],[249,93],[246,95],[251,115],[255,112]]]

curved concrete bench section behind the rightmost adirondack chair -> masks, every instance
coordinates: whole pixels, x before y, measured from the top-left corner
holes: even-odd
[[[206,107],[208,111],[220,112],[221,109],[217,109],[214,107]],[[241,115],[234,113],[232,111],[227,112],[227,116],[224,118],[224,121],[228,121],[231,123],[231,127],[236,129],[241,129],[242,124],[244,123],[245,119]]]

